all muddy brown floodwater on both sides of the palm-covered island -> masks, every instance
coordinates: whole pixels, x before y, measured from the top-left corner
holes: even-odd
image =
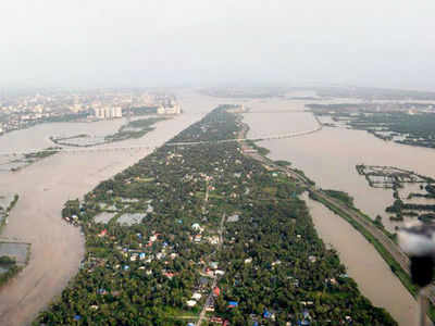
[[[153,131],[140,139],[98,148],[146,146],[151,149],[201,118],[219,103],[237,102],[192,92],[183,92],[178,98],[185,114],[158,123]],[[249,137],[304,131],[318,126],[311,113],[301,112],[302,101],[266,99],[245,101],[245,104],[253,112],[245,115],[251,127]],[[266,110],[274,113],[268,114]],[[52,146],[50,136],[104,136],[115,133],[123,123],[114,120],[39,125],[0,137],[0,152],[45,149]],[[385,224],[388,221],[384,209],[393,202],[391,192],[370,188],[365,178],[357,174],[356,164],[393,165],[435,177],[434,150],[384,142],[365,131],[324,127],[312,135],[260,145],[271,150],[272,159],[290,161],[321,187],[349,192],[359,209],[372,217],[381,214]],[[77,272],[84,253],[84,239],[78,228],[60,218],[63,203],[83,197],[101,180],[148,154],[150,149],[59,153],[16,173],[0,173],[0,193],[20,195],[2,238],[32,242],[28,266],[0,291],[0,325],[32,322]],[[374,304],[386,308],[401,325],[410,325],[415,303],[372,246],[323,206],[310,201],[309,205],[319,234],[337,249],[361,291]]]

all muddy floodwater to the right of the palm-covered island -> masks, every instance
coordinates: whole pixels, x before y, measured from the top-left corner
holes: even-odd
[[[318,122],[314,116],[310,112],[300,112],[303,104],[303,101],[282,99],[246,103],[252,110],[244,118],[250,126],[248,137],[315,128]],[[274,113],[265,113],[268,110]],[[362,130],[324,127],[311,135],[266,140],[259,145],[271,151],[271,159],[290,161],[318,186],[348,192],[355,198],[357,208],[372,218],[380,214],[389,229],[394,229],[395,225],[387,218],[385,208],[394,201],[391,190],[369,187],[355,166],[361,163],[388,165],[435,177],[435,150],[386,142]],[[389,311],[400,325],[413,325],[415,301],[373,246],[321,204],[313,201],[308,201],[308,204],[320,236],[339,252],[362,293],[374,304]]]

